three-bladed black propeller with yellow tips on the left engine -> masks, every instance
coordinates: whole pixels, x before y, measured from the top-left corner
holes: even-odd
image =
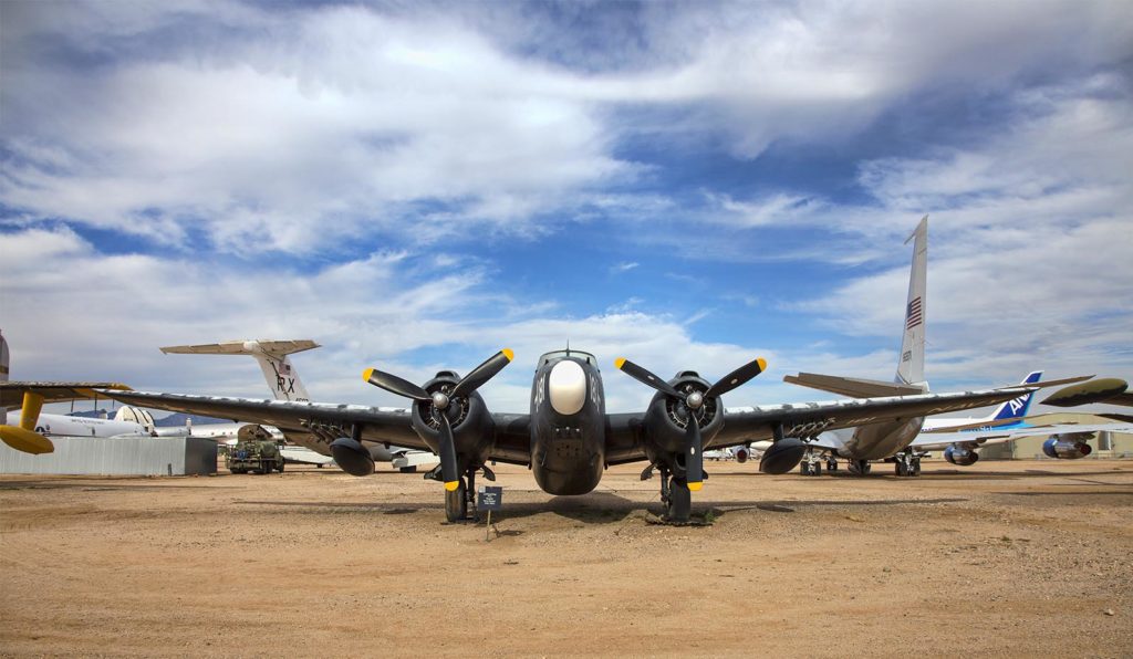
[[[452,403],[452,399],[470,395],[472,392],[478,390],[480,385],[488,382],[497,373],[503,370],[503,367],[511,363],[513,358],[514,353],[504,348],[488,358],[487,361],[474,368],[471,373],[457,383],[457,386],[452,388],[452,393],[448,395],[443,392],[436,392],[435,394],[429,395],[429,393],[424,388],[407,379],[389,373],[382,373],[374,368],[366,369],[361,374],[361,378],[392,394],[398,394],[399,396],[412,399],[418,402],[433,403],[433,418],[436,419],[441,429],[441,442],[438,446],[441,450],[441,477],[444,479],[444,489],[453,491],[460,487],[460,473],[457,471],[457,445],[452,438],[452,425],[449,423],[449,417],[445,412]]]

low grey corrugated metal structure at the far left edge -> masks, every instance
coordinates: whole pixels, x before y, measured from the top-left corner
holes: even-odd
[[[216,443],[203,437],[52,437],[54,453],[0,444],[0,473],[189,476],[216,473]]]

